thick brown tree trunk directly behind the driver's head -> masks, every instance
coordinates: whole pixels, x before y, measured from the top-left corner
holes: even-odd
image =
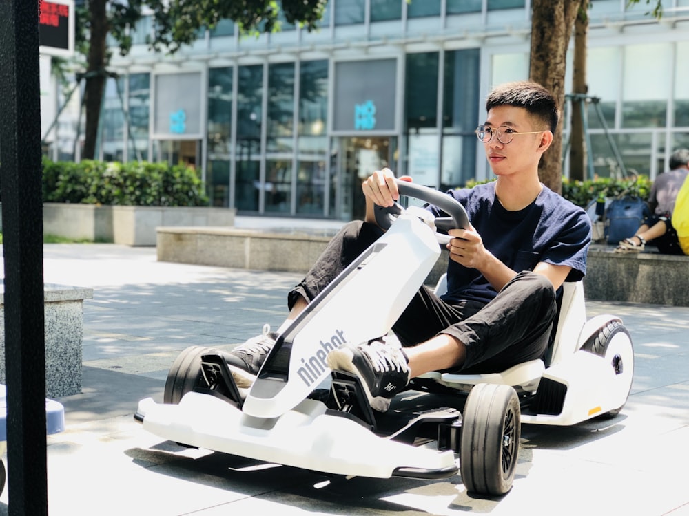
[[[581,0],[533,0],[531,17],[531,80],[543,85],[564,106],[567,47]],[[562,120],[551,148],[539,164],[539,177],[551,190],[562,193]]]

